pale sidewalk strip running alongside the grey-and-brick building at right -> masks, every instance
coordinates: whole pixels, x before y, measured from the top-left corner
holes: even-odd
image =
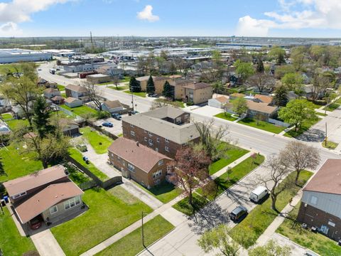
[[[265,245],[271,238],[274,237],[274,233],[276,233],[277,228],[283,223],[286,219],[288,213],[293,210],[293,208],[300,202],[302,198],[302,190],[298,191],[296,196],[293,198],[291,203],[288,203],[285,208],[283,208],[282,212],[274,219],[274,221],[269,225],[268,228],[264,231],[264,233],[258,238],[256,241],[256,245]]]

